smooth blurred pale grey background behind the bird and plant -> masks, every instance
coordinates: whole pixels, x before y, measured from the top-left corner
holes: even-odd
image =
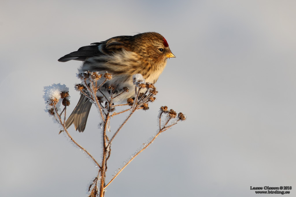
[[[97,168],[58,135],[43,87],[66,84],[70,113],[81,62],[57,59],[147,31],[161,33],[177,58],[156,83],[157,101],[114,141],[107,180],[156,133],[161,105],[188,119],[131,162],[106,196],[257,196],[250,186],[292,186],[295,195],[295,18],[295,1],[2,0],[0,196],[87,195]],[[90,116],[84,133],[69,131],[99,157],[94,108]]]

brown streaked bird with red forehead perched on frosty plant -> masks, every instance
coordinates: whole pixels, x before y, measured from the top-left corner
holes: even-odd
[[[161,34],[144,32],[91,43],[59,58],[58,61],[83,61],[82,66],[78,68],[79,73],[108,72],[112,74],[112,79],[107,85],[113,85],[120,92],[123,87],[134,89],[132,77],[134,74],[141,74],[145,82],[155,84],[166,66],[167,59],[175,57],[170,51],[167,40]],[[101,88],[102,91],[106,91]],[[133,91],[121,94],[113,102],[124,102],[134,94]],[[78,104],[65,122],[65,127],[69,128],[74,124],[76,131],[83,132],[91,105],[89,99],[81,94]]]

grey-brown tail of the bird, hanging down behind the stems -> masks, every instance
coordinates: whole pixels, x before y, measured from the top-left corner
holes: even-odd
[[[73,123],[76,131],[83,132],[86,126],[87,117],[89,116],[91,104],[89,99],[81,94],[75,109],[65,122],[66,128],[69,128]]]

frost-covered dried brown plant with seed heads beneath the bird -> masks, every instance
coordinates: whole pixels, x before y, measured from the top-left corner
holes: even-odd
[[[89,72],[85,71],[78,74],[78,78],[81,79],[80,84],[75,85],[75,89],[81,92],[89,98],[96,108],[99,110],[99,116],[102,120],[102,158],[95,159],[86,149],[84,149],[80,144],[78,144],[67,131],[65,127],[66,120],[66,109],[70,105],[69,101],[69,90],[65,85],[53,84],[52,86],[44,87],[44,100],[46,101],[46,111],[53,117],[54,121],[62,126],[62,130],[59,133],[65,131],[67,136],[76,144],[80,149],[82,149],[89,157],[95,162],[99,167],[99,171],[96,178],[89,185],[89,197],[103,197],[105,189],[112,183],[112,181],[119,175],[119,173],[143,150],[145,150],[159,135],[160,133],[166,131],[168,128],[176,125],[178,121],[184,121],[186,116],[183,113],[176,113],[174,110],[168,110],[167,106],[162,106],[160,108],[160,113],[158,115],[159,119],[159,129],[157,134],[144,146],[134,154],[128,162],[121,167],[118,172],[112,177],[109,182],[106,182],[106,171],[107,171],[107,160],[110,158],[111,144],[114,138],[117,136],[118,132],[126,124],[126,122],[131,118],[131,116],[136,112],[136,110],[148,110],[149,102],[155,101],[155,95],[157,90],[155,86],[151,83],[146,83],[141,74],[136,74],[133,76],[133,84],[135,85],[134,90],[129,90],[127,87],[114,96],[116,87],[105,87],[105,83],[112,79],[112,75],[108,73],[100,74],[99,72]],[[103,79],[103,80],[102,80]],[[98,83],[100,82],[100,83]],[[104,89],[104,91],[102,91]],[[135,96],[133,98],[128,98],[125,104],[114,104],[112,102],[115,97],[125,94],[129,91],[134,91]],[[98,97],[97,92],[100,92],[103,97]],[[64,106],[60,110],[60,104]],[[115,108],[120,108],[119,112],[114,112]],[[124,108],[124,109],[122,109]],[[122,113],[129,113],[128,117],[123,121],[115,133],[110,136],[107,135],[108,128],[110,126],[110,118]]]

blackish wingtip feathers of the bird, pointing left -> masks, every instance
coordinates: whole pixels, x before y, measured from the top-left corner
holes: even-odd
[[[69,53],[61,58],[58,59],[60,62],[66,62],[70,60],[78,60],[78,61],[85,61],[86,58],[93,57],[93,56],[100,56],[103,53],[99,51],[98,46],[102,43],[93,43],[95,45],[90,46],[83,46],[79,48],[77,51]]]

